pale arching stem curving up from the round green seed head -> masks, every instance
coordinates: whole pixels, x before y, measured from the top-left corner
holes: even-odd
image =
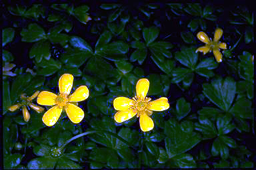
[[[119,135],[115,134],[115,133],[112,133],[111,131],[106,131],[106,130],[92,130],[92,131],[85,131],[84,133],[81,133],[79,135],[75,135],[74,137],[71,137],[71,139],[67,140],[63,145],[61,145],[61,149],[64,149],[64,147],[70,143],[71,141],[79,138],[79,137],[82,137],[84,135],[89,135],[91,133],[109,133],[110,135],[113,135],[114,137],[117,137],[117,139],[119,139],[120,141],[123,141],[123,143],[126,143],[127,145],[133,147],[131,145],[131,143],[129,143],[128,141],[126,141],[125,139],[123,139],[122,137],[120,137]],[[133,147],[134,148],[134,147]]]

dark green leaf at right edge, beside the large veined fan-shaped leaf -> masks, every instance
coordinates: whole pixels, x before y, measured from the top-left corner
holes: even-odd
[[[239,98],[229,110],[237,118],[251,119],[253,118],[253,110],[251,109],[251,101],[247,98]]]

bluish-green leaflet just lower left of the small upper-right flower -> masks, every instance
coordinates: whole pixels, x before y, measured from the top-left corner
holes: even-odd
[[[195,68],[197,64],[198,54],[195,53],[195,48],[181,48],[181,51],[175,53],[175,59],[181,62],[184,66]]]

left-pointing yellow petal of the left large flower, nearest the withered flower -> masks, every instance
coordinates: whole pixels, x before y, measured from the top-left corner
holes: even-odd
[[[43,91],[37,96],[37,103],[46,106],[53,106],[56,104],[56,98],[56,94],[52,92]]]

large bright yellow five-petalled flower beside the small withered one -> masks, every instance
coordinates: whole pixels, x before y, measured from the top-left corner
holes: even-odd
[[[77,90],[71,95],[71,88],[73,86],[73,76],[71,74],[63,74],[59,78],[59,94],[43,91],[37,97],[37,103],[46,106],[53,106],[43,115],[43,123],[47,126],[53,126],[63,108],[71,122],[78,124],[83,120],[84,112],[81,108],[77,107],[74,103],[80,102],[88,98],[89,90],[87,86],[79,86]]]

